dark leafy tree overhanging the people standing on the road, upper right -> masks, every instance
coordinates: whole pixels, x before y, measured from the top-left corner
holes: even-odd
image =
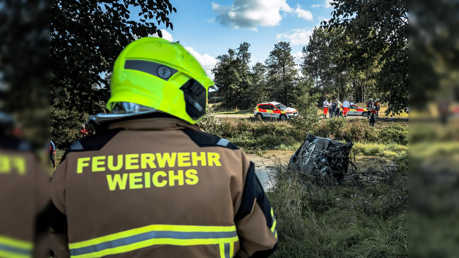
[[[408,104],[408,0],[335,0],[333,17],[323,22],[330,29],[343,27],[352,41],[343,62],[366,69],[377,60],[375,87],[390,103],[387,112]]]

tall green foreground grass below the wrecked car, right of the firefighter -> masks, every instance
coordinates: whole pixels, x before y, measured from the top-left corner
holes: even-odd
[[[378,184],[356,175],[319,186],[280,160],[273,168],[267,194],[279,233],[274,257],[408,257],[407,173],[384,168]]]

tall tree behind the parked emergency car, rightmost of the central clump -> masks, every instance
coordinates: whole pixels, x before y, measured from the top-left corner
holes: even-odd
[[[290,105],[297,97],[298,72],[295,58],[291,55],[289,42],[281,41],[274,45],[265,64],[268,68],[270,97],[285,105]]]

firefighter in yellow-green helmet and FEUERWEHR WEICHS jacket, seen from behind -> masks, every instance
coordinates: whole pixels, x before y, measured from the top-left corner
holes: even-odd
[[[202,132],[217,90],[185,48],[130,43],[115,61],[96,134],[69,147],[51,180],[55,257],[268,257],[274,211],[255,165]]]

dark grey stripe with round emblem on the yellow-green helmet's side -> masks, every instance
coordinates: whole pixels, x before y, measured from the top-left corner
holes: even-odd
[[[124,69],[150,73],[151,75],[154,75],[166,81],[169,78],[171,78],[172,75],[179,71],[177,69],[165,66],[160,63],[144,60],[126,60],[124,62]]]

